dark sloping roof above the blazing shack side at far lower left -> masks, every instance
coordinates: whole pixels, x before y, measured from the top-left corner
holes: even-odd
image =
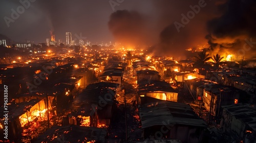
[[[22,103],[12,102],[9,105],[7,105],[8,110],[5,110],[4,105],[1,106],[0,112],[1,112],[1,114],[5,114],[5,111],[9,111],[8,118],[10,121],[12,121],[15,118],[17,118],[17,117],[23,115],[24,113],[26,113],[27,111],[29,111],[30,108],[32,108],[39,101],[40,101],[39,99],[32,99],[28,102],[22,102]],[[4,118],[3,118],[3,116],[1,116],[0,122],[3,122],[3,121],[4,121]]]

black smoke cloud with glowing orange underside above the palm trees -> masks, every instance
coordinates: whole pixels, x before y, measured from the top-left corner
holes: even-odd
[[[222,15],[208,22],[210,47],[215,52],[231,53],[238,60],[256,54],[245,39],[256,41],[256,1],[230,0],[219,5]],[[246,48],[244,45],[247,43]],[[250,49],[250,50],[248,50]]]

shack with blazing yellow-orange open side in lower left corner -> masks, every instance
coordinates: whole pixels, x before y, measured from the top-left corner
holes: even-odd
[[[51,109],[49,106],[48,109]],[[21,138],[23,127],[34,120],[47,120],[47,105],[44,100],[32,99],[27,102],[8,105],[8,138],[17,140]],[[4,107],[1,108],[4,113]],[[4,133],[4,118],[0,121],[0,132]]]

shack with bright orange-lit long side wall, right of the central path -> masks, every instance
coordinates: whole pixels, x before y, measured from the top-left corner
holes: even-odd
[[[156,100],[178,101],[178,91],[165,81],[144,80],[138,86],[137,103],[144,104]]]

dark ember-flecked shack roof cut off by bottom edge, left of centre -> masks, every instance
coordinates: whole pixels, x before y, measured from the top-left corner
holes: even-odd
[[[105,142],[106,129],[75,125],[55,126],[32,142]]]

